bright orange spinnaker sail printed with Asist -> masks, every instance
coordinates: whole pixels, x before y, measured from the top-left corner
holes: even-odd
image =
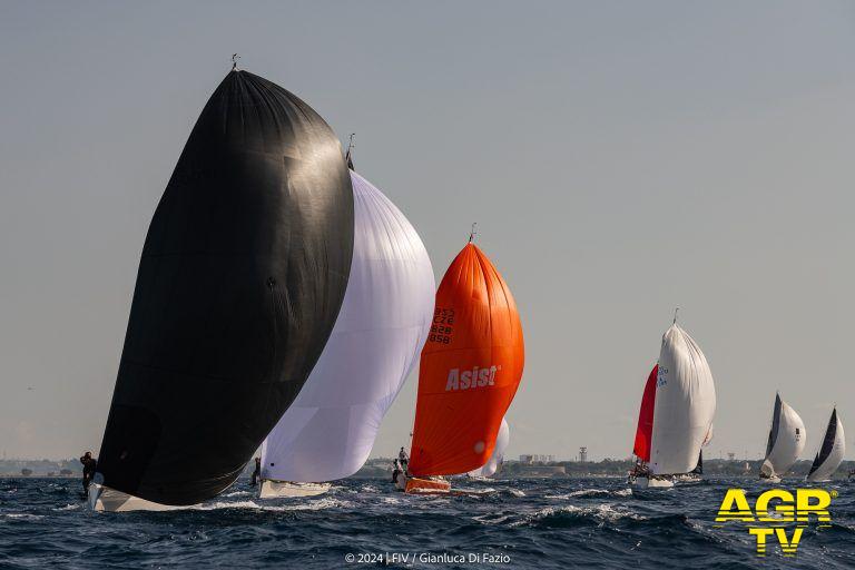
[[[469,244],[440,289],[419,370],[413,475],[465,473],[487,463],[522,377],[522,325],[508,285]]]

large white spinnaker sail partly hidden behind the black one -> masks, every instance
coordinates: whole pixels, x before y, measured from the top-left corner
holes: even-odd
[[[365,463],[417,361],[436,285],[424,244],[392,202],[351,171],[353,263],[330,341],[262,445],[262,478],[321,482]]]

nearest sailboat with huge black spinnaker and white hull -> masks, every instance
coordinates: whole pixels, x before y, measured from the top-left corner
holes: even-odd
[[[234,483],[333,331],[353,216],[330,126],[234,66],[148,229],[92,509],[190,505]]]

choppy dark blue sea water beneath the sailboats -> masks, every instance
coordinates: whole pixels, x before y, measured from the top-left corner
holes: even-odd
[[[273,501],[242,480],[196,508],[129,513],[88,511],[77,480],[2,479],[0,568],[855,568],[855,483],[823,487],[831,525],[809,525],[795,558],[774,541],[760,558],[746,524],[715,522],[727,489],[768,489],[750,479],[460,480],[471,493],[451,497],[345,480]]]

